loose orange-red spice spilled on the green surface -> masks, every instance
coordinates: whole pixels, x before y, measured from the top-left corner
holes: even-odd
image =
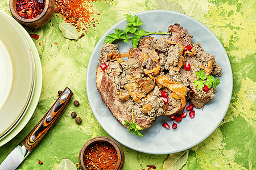
[[[55,12],[61,14],[65,22],[86,31],[90,24],[98,22],[93,16],[100,15],[94,9],[94,1],[101,0],[55,0]]]

